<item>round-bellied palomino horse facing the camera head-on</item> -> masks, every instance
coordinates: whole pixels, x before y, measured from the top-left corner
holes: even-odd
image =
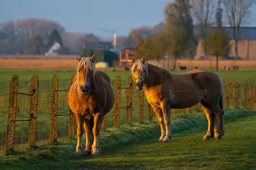
[[[95,71],[94,54],[91,58],[75,58],[79,64],[67,96],[67,103],[75,113],[78,125],[75,156],[82,155],[81,137],[84,130],[86,133],[84,154],[99,155],[100,125],[105,114],[113,107],[114,93],[108,75],[102,71]]]

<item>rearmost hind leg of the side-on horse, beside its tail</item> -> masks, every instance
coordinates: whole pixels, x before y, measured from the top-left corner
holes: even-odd
[[[211,109],[215,113],[214,136],[217,140],[221,140],[221,121],[224,115],[224,111],[218,104],[212,105]]]

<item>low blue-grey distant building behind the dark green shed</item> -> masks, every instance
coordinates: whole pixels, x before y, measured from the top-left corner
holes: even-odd
[[[113,50],[113,46],[111,42],[103,42],[103,41],[84,41],[83,48],[90,49],[90,50],[108,50],[108,51]]]

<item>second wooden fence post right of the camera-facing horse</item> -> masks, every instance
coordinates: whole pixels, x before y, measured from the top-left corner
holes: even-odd
[[[131,124],[131,111],[132,111],[132,78],[131,76],[128,76],[127,78],[127,110],[126,110],[126,123]]]

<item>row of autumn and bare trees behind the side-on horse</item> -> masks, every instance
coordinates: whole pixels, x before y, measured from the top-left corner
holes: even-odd
[[[177,58],[193,58],[199,41],[202,41],[205,56],[215,56],[216,70],[218,58],[226,57],[230,50],[230,41],[235,41],[236,59],[240,27],[250,18],[250,7],[256,0],[175,0],[167,3],[164,9],[165,22],[157,34],[139,37],[135,55],[151,59],[172,56],[176,68]],[[223,28],[224,22],[232,29],[231,37]],[[143,28],[141,28],[143,29]],[[133,31],[133,30],[132,30]],[[142,32],[136,30],[136,32]],[[130,33],[128,38],[133,37]],[[144,31],[145,32],[145,31]],[[135,41],[134,41],[135,42]]]

